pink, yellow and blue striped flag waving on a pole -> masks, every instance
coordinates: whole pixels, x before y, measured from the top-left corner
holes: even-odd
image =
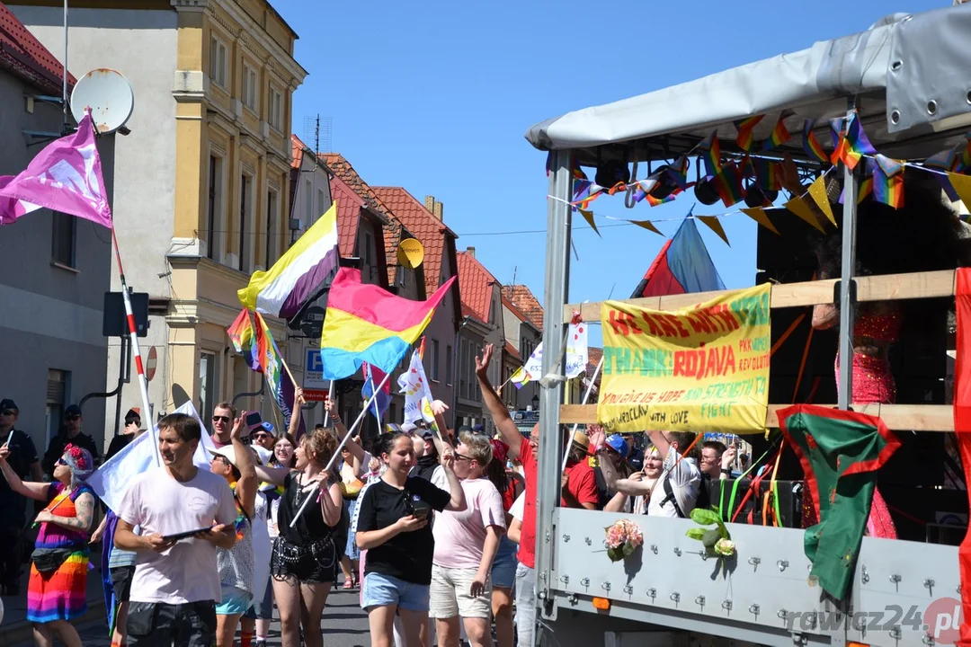
[[[454,280],[452,276],[427,301],[411,301],[362,283],[359,270],[341,268],[330,284],[320,336],[323,379],[350,377],[364,362],[393,372]]]

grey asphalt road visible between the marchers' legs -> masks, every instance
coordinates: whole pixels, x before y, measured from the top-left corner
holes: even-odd
[[[331,592],[327,598],[327,608],[323,611],[323,644],[326,647],[366,647],[371,644],[367,616],[358,604],[358,599],[357,589],[335,589]],[[88,623],[79,627],[78,631],[84,647],[111,646],[104,621]],[[279,647],[280,644],[280,623],[274,620],[267,645]],[[21,642],[16,647],[33,647],[33,642]]]

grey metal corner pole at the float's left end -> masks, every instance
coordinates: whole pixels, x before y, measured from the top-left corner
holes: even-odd
[[[543,295],[543,375],[554,367],[566,366],[563,352],[563,306],[568,298],[570,281],[570,226],[572,176],[570,151],[552,152],[550,195],[547,200],[547,261],[546,286]],[[552,602],[551,580],[553,566],[553,515],[559,505],[559,457],[562,435],[559,433],[559,404],[562,402],[563,381],[548,382],[540,389],[540,443],[537,469],[536,508],[536,603]],[[555,613],[547,604],[548,615]]]

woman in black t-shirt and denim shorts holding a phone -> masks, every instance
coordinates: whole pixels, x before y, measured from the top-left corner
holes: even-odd
[[[421,627],[428,623],[428,591],[435,554],[429,515],[432,510],[465,510],[465,494],[453,469],[451,447],[440,447],[449,492],[419,476],[408,475],[416,461],[411,437],[384,434],[375,448],[387,469],[362,491],[358,502],[357,547],[367,551],[361,606],[368,614],[372,645],[393,644],[397,615],[404,630],[403,647],[419,647]]]

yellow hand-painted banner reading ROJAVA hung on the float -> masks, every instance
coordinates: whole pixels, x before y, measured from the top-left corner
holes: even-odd
[[[765,431],[768,284],[667,312],[606,301],[597,420],[609,432]]]

